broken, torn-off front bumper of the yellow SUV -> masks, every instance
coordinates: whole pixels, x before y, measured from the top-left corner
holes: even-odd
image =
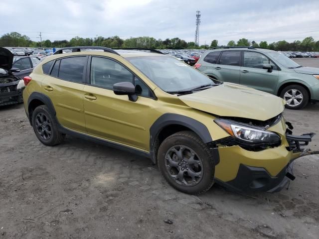
[[[288,127],[287,127],[288,126]],[[294,160],[319,151],[305,149],[315,133],[292,134],[292,125],[285,120],[273,127],[280,132],[280,146],[264,150],[243,148],[240,145],[219,144],[220,163],[215,168],[217,183],[239,192],[278,192],[289,180],[294,180]],[[221,140],[218,140],[221,142]],[[227,144],[227,145],[226,145]]]

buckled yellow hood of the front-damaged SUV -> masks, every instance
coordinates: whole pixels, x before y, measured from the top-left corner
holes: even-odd
[[[187,106],[224,117],[267,120],[284,111],[284,100],[245,86],[222,85],[178,97]]]

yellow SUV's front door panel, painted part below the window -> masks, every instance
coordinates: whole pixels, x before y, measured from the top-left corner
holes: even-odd
[[[90,134],[146,149],[149,144],[153,99],[139,97],[136,102],[128,96],[115,95],[112,90],[84,87],[84,115]]]

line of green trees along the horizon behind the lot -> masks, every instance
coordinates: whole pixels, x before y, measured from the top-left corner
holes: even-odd
[[[30,40],[26,35],[21,35],[18,32],[10,32],[3,34],[0,37],[0,46],[8,47],[69,47],[69,46],[104,46],[110,48],[118,47],[142,47],[152,49],[209,49],[219,45],[218,40],[212,40],[211,44],[196,46],[195,42],[186,42],[178,37],[155,39],[149,36],[131,37],[128,39],[121,39],[119,36],[103,37],[97,36],[94,38],[82,38],[79,36],[73,37],[71,40],[44,40],[36,42]],[[267,41],[249,41],[246,38],[241,38],[237,42],[230,40],[227,46],[252,46],[276,51],[319,51],[319,41],[315,41],[312,36],[306,37],[304,40],[296,40],[287,42],[286,40],[272,42],[268,44]]]

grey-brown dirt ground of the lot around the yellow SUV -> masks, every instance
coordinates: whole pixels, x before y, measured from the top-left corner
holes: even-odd
[[[319,149],[319,105],[285,117],[295,134],[318,133]],[[42,145],[22,105],[0,108],[0,145],[0,239],[319,238],[318,155],[297,159],[280,193],[214,185],[196,197],[168,186],[149,159],[70,136]]]

